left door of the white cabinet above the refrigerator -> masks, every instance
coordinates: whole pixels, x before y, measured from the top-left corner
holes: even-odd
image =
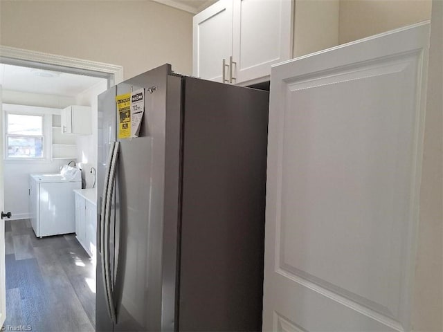
[[[192,75],[222,81],[223,59],[232,54],[233,0],[221,0],[195,15],[193,20]],[[226,68],[226,77],[228,69]]]

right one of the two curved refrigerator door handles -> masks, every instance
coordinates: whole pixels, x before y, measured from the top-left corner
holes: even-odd
[[[111,264],[109,264],[109,231],[111,228],[111,219],[109,218],[109,215],[111,214],[111,201],[112,201],[112,194],[114,192],[114,183],[116,181],[116,172],[117,172],[117,162],[118,162],[118,147],[119,142],[115,142],[114,151],[112,154],[112,161],[109,167],[109,180],[108,180],[108,190],[107,190],[107,196],[106,196],[106,219],[105,219],[105,243],[103,243],[103,255],[105,257],[105,273],[103,274],[105,277],[105,288],[107,291],[107,302],[108,302],[108,311],[109,311],[109,317],[111,317],[112,322],[114,324],[117,324],[117,317],[116,317],[116,305],[114,301],[114,287],[112,286],[112,273],[111,273]]]

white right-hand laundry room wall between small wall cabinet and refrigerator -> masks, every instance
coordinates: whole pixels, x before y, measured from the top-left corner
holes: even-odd
[[[75,138],[77,144],[76,157],[78,165],[82,168],[82,177],[86,181],[87,188],[91,188],[93,185],[93,175],[90,172],[91,167],[97,169],[97,96],[106,89],[107,80],[102,80],[102,82],[80,93],[75,100],[75,104],[91,107],[91,118],[85,120],[91,121],[92,135],[82,135]]]

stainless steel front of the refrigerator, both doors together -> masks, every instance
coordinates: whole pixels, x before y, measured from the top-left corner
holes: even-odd
[[[167,93],[172,86],[175,92]],[[145,113],[140,137],[120,140],[116,138],[115,96],[141,88],[145,89]],[[116,324],[112,324],[107,313],[109,301],[99,256],[96,331],[174,331],[180,91],[181,77],[172,74],[170,65],[165,64],[99,96],[100,194],[110,142],[120,141],[120,148],[110,213],[110,239],[114,241],[110,247],[114,250],[110,252],[109,264],[114,277]],[[171,131],[174,135],[169,134]],[[99,198],[99,209],[100,201]],[[163,213],[166,209],[168,213]]]

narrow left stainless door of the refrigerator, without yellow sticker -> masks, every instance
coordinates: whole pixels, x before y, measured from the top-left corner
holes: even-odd
[[[108,168],[108,154],[111,145],[116,141],[116,86],[98,96],[98,163],[97,163],[97,220],[100,221],[102,196],[105,185],[105,174]],[[111,211],[114,219],[114,211]],[[111,220],[114,222],[113,220]],[[97,223],[97,248],[100,248],[100,222]],[[113,331],[113,323],[107,311],[107,295],[102,274],[102,252],[97,251],[97,293],[96,293],[96,331]]]

